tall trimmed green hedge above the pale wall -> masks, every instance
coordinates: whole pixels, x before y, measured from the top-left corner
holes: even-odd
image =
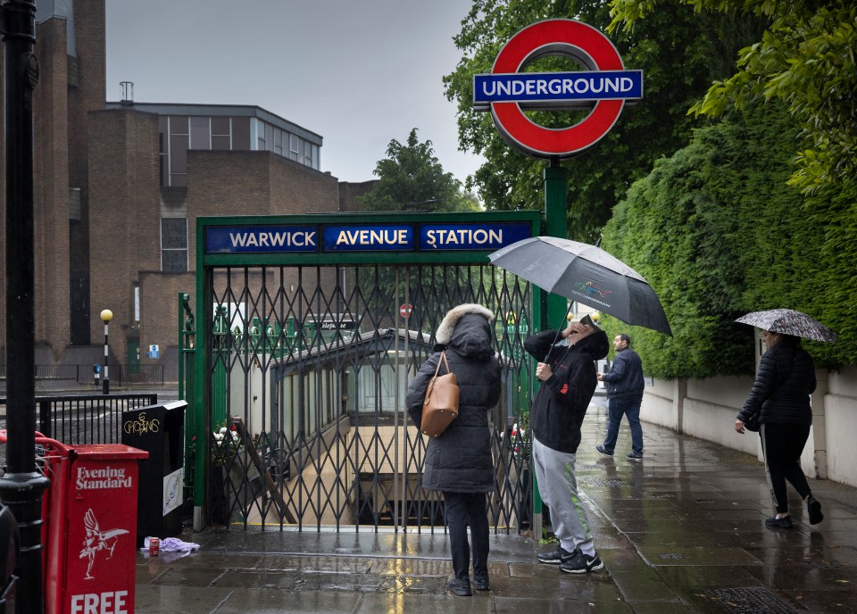
[[[647,374],[752,373],[753,329],[734,320],[775,307],[840,333],[839,344],[804,343],[818,363],[857,361],[854,200],[807,199],[786,185],[799,138],[778,104],[748,105],[697,130],[614,207],[602,245],[652,284],[674,335],[605,318],[634,337]]]

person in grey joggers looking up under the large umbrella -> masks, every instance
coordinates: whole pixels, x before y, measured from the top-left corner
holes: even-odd
[[[553,344],[556,333],[546,330],[524,342],[527,352],[540,361],[536,377],[542,383],[529,416],[533,466],[538,492],[551,510],[553,535],[560,541],[555,551],[539,553],[538,560],[559,565],[570,574],[582,574],[604,567],[578,497],[574,462],[580,425],[597,385],[595,361],[607,355],[609,344],[588,316],[559,334],[568,341],[567,346]]]

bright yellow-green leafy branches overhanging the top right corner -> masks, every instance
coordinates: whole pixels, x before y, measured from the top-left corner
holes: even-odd
[[[632,31],[643,17],[671,11],[676,0],[612,0],[611,29]],[[743,12],[770,19],[761,40],[740,52],[737,71],[714,83],[693,111],[721,115],[777,98],[803,128],[791,183],[809,194],[845,187],[857,177],[857,5],[852,0],[680,0],[703,12]],[[807,145],[803,145],[807,144]],[[805,148],[804,148],[805,147]]]

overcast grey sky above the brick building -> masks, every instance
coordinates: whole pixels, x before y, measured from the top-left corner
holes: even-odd
[[[107,0],[107,99],[254,104],[321,137],[321,170],[375,176],[390,139],[412,128],[462,181],[481,162],[458,151],[441,81],[470,0]],[[192,76],[193,75],[193,76]]]

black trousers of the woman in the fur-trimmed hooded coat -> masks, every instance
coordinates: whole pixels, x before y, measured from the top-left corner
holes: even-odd
[[[449,550],[453,555],[453,570],[459,580],[469,580],[470,546],[467,527],[473,541],[473,576],[488,577],[488,515],[485,493],[448,493],[446,525],[449,527]]]

